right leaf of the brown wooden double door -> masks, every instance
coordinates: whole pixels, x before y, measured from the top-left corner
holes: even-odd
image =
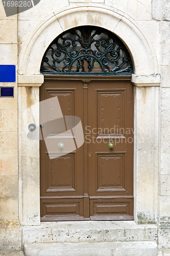
[[[103,220],[104,215],[111,220],[117,215],[133,219],[132,84],[90,81],[88,124],[90,219]],[[112,149],[109,142],[114,143]]]

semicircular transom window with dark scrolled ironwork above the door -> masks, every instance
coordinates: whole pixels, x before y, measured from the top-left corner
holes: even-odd
[[[67,30],[48,46],[42,74],[131,75],[130,53],[115,34],[93,26]]]

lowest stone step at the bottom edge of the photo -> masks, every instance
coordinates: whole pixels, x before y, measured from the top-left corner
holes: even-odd
[[[156,256],[157,243],[92,242],[92,243],[34,243],[25,244],[26,256]]]

